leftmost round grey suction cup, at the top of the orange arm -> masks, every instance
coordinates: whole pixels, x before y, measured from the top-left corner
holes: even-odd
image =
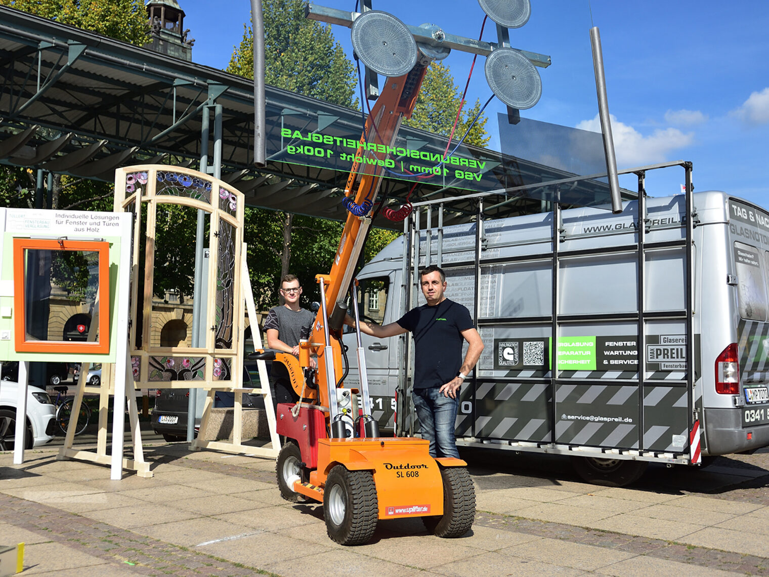
[[[352,23],[352,48],[377,74],[402,76],[417,63],[417,42],[406,25],[388,12],[372,10]]]

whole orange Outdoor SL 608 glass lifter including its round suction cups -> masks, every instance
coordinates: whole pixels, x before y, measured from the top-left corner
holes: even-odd
[[[328,275],[316,277],[321,309],[310,339],[300,343],[299,359],[274,351],[251,358],[285,365],[299,395],[296,405],[280,404],[277,410],[278,433],[286,439],[276,468],[281,494],[294,502],[322,502],[328,535],[343,545],[367,542],[378,519],[414,516],[421,517],[435,535],[458,537],[470,529],[475,515],[475,493],[464,461],[432,458],[422,439],[379,436],[370,414],[355,290],[351,294],[358,332],[358,390],[345,389],[343,382],[341,329],[345,296],[371,226],[371,205],[388,158],[378,150],[391,148],[401,121],[411,117],[430,62],[445,58],[452,49],[484,55],[486,78],[494,95],[508,105],[508,115],[539,100],[541,80],[534,66],[547,67],[550,57],[511,48],[508,35],[508,28],[520,28],[528,21],[531,3],[478,3],[497,25],[497,43],[450,35],[431,24],[407,26],[387,12],[372,10],[371,0],[361,1],[361,13],[312,3],[305,8],[308,18],[351,28],[355,55],[366,67],[367,95],[378,92],[377,74],[387,78],[365,122],[348,177],[344,203],[350,214],[334,265]],[[311,354],[318,357],[317,372],[305,370]],[[353,394],[358,395],[359,409],[351,406]]]

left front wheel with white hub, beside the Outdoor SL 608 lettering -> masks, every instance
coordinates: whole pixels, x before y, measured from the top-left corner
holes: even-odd
[[[340,545],[363,545],[377,528],[379,502],[371,471],[348,471],[336,465],[323,492],[326,532]]]

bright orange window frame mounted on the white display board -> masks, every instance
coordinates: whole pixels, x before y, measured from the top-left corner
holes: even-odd
[[[26,340],[25,250],[98,252],[98,340],[95,342]],[[109,242],[71,241],[57,238],[13,239],[14,329],[16,352],[104,353],[109,352]]]

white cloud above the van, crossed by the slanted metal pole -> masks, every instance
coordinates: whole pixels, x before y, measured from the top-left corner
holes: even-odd
[[[601,132],[598,115],[583,120],[576,128]],[[614,138],[614,152],[619,168],[631,168],[668,160],[668,153],[677,148],[691,145],[694,134],[684,134],[678,128],[657,128],[651,135],[644,136],[632,126],[619,122],[611,115],[611,135]]]

